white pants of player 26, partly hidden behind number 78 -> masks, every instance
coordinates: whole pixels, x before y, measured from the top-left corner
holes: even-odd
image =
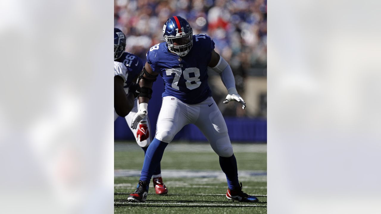
[[[144,141],[139,141],[139,139],[136,137],[136,133],[138,133],[139,126],[138,126],[137,129],[132,129],[132,128],[131,128],[132,120],[133,120],[133,118],[135,117],[136,112],[138,112],[138,106],[139,106],[139,104],[138,104],[138,98],[135,98],[134,102],[135,102],[134,107],[132,108],[131,112],[128,113],[128,115],[125,117],[126,122],[127,122],[127,126],[128,126],[128,128],[131,129],[132,133],[134,134],[136,143],[138,143],[138,145],[139,145],[140,147],[147,147],[147,146],[149,146],[149,144],[151,143],[151,137],[148,137],[148,138],[145,139]],[[117,115],[117,113],[116,113],[115,110],[114,110],[114,121],[115,121],[118,117],[119,117],[119,115]],[[141,121],[139,122],[139,125],[140,125],[140,124],[147,124],[148,131],[149,131],[149,135],[151,136],[151,128],[150,128],[150,123],[149,123],[148,116],[146,116],[143,120],[141,120]]]

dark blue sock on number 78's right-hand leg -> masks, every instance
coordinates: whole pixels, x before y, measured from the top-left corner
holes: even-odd
[[[234,190],[234,187],[239,187],[237,160],[235,160],[234,154],[228,158],[219,156],[219,165],[226,174],[229,189]]]

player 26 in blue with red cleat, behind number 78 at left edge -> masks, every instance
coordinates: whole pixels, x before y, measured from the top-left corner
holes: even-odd
[[[138,96],[139,91],[139,85],[134,83],[136,79],[138,78],[139,74],[142,72],[143,69],[143,62],[142,60],[132,54],[125,52],[126,47],[126,37],[122,30],[118,28],[114,28],[114,61],[119,62],[120,64],[125,65],[127,68],[127,77],[124,81],[124,88],[125,93],[124,96],[130,95],[131,93],[134,94],[134,96]],[[130,93],[129,93],[130,92]],[[131,124],[132,119],[134,118],[135,114],[138,112],[138,99],[134,98],[133,101],[133,108],[128,115],[120,115],[122,117],[125,117],[127,124]],[[140,147],[144,150],[144,155],[147,152],[147,148],[149,144],[151,143],[151,137],[150,137],[150,123],[148,120],[148,117],[144,118],[144,120],[139,121],[136,126],[138,129],[131,129],[132,133],[135,136],[135,140],[138,143]],[[160,163],[158,163],[157,167],[153,171],[153,184],[155,187],[156,194],[162,195],[168,193],[168,189],[163,184],[163,179],[161,176],[161,169],[160,169]]]

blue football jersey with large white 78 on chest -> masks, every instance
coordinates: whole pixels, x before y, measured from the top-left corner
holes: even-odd
[[[147,52],[147,62],[163,77],[162,97],[174,96],[187,104],[197,104],[211,96],[207,71],[215,43],[205,34],[193,35],[192,39],[192,49],[186,56],[171,53],[165,42]]]

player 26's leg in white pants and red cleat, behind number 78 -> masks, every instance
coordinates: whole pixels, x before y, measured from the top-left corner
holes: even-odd
[[[128,125],[131,124],[136,112],[138,112],[138,99],[135,99],[135,104],[131,112],[125,117],[126,122]],[[134,134],[136,143],[143,149],[144,156],[146,155],[147,149],[149,144],[151,143],[151,130],[150,130],[150,122],[148,117],[145,117],[143,120],[139,122],[139,126],[137,129],[132,129],[131,126],[128,126],[132,133]],[[156,167],[154,171],[153,181],[154,181],[154,187],[155,192],[158,195],[166,194],[168,193],[168,189],[165,187],[161,175],[161,167],[160,163],[158,163],[158,166]]]

